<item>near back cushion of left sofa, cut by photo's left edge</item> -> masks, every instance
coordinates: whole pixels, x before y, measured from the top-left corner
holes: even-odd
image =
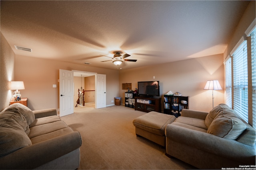
[[[15,120],[16,118],[8,118],[6,115],[5,118],[0,118],[0,156],[32,145],[24,128]]]

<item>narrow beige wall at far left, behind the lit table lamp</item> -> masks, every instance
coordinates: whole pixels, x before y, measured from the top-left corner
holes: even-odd
[[[18,79],[14,79],[15,54],[2,33],[0,51],[0,111],[2,111],[9,106],[14,91],[9,90],[9,82],[18,81]]]

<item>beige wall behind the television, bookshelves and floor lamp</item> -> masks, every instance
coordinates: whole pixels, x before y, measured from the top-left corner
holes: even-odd
[[[153,79],[155,76],[155,79]],[[119,95],[124,104],[122,83],[132,83],[132,90],[138,87],[138,81],[159,80],[160,96],[169,90],[189,96],[189,108],[210,111],[212,109],[212,90],[204,90],[207,80],[219,80],[224,87],[223,55],[213,55],[188,59],[154,66],[120,70]],[[224,90],[214,90],[214,106],[224,102]]]

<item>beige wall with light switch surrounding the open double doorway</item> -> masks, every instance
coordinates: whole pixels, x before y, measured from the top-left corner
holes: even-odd
[[[30,109],[59,108],[59,69],[106,74],[106,105],[114,104],[111,101],[118,95],[118,70],[16,55],[15,77],[24,81],[25,90],[20,92],[28,98]],[[52,84],[57,84],[57,88],[52,88]]]

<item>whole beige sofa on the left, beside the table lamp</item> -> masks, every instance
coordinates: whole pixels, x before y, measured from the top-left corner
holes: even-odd
[[[0,112],[0,169],[76,169],[81,145],[56,109],[16,103]]]

